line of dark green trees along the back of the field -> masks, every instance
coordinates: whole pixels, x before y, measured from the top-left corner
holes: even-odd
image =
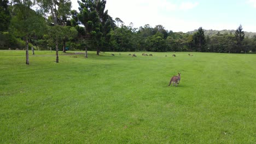
[[[70,0],[1,0],[0,49],[100,51],[255,52],[256,36],[235,33],[172,32],[164,26],[134,28],[105,10],[106,1],[82,0],[79,11]],[[34,6],[39,6],[34,10]],[[33,8],[33,9],[32,9]],[[215,32],[215,31],[214,31]]]

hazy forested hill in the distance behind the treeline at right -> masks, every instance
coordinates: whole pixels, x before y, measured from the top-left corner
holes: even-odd
[[[211,37],[212,35],[218,34],[218,32],[219,32],[219,34],[225,34],[225,33],[230,33],[230,32],[231,32],[232,34],[235,34],[235,32],[236,32],[236,30],[226,30],[226,29],[224,29],[224,30],[222,30],[222,31],[217,31],[217,30],[212,30],[212,29],[210,29],[210,30],[204,29],[204,30],[205,30],[205,35],[209,35],[210,37]],[[187,33],[188,33],[188,34],[193,34],[193,33],[195,33],[195,32],[197,32],[197,29],[195,29],[194,31],[187,32]],[[252,38],[253,35],[256,35],[256,33],[253,33],[253,32],[245,32],[245,37]]]

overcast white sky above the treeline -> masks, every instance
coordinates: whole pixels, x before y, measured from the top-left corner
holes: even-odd
[[[71,0],[78,10],[77,0]],[[162,25],[173,32],[236,29],[256,32],[256,0],[107,0],[108,14],[138,28]]]

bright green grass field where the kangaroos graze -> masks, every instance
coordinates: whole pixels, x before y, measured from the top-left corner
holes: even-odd
[[[0,51],[0,143],[256,143],[256,55],[35,53]]]

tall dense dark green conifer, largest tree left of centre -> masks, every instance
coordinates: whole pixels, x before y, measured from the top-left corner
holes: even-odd
[[[82,0],[79,3],[79,21],[84,25],[86,39],[91,47],[100,53],[100,47],[109,43],[109,32],[114,26],[112,17],[108,11],[104,11],[106,1],[104,0]]]

